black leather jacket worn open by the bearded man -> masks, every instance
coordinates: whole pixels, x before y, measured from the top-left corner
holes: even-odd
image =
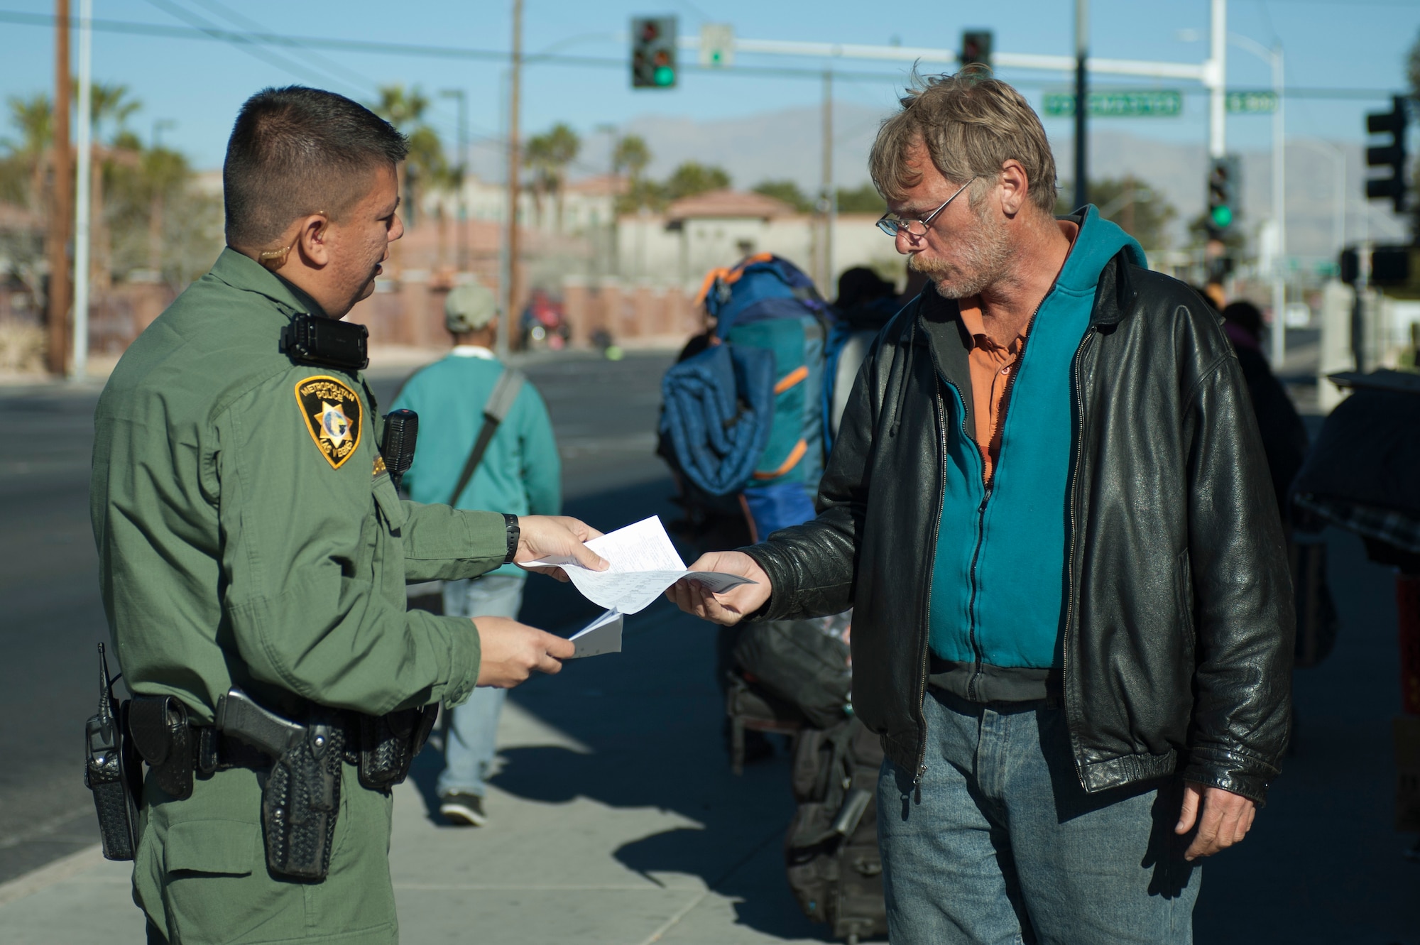
[[[818,518],[744,549],[774,586],[755,619],[855,607],[853,708],[919,773],[943,379],[968,370],[958,326],[929,284],[883,329]],[[1261,802],[1288,739],[1295,620],[1233,348],[1191,289],[1120,254],[1099,278],[1074,396],[1059,646],[1079,780],[1099,792],[1180,772]]]

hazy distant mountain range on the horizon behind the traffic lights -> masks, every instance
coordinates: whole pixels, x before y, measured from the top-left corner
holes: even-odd
[[[868,150],[883,114],[862,105],[841,102],[834,108],[834,167],[841,187],[868,182]],[[649,173],[669,175],[684,160],[724,167],[736,187],[748,189],[761,180],[794,180],[807,193],[819,187],[822,167],[822,112],[818,108],[788,108],[720,121],[696,121],[676,115],[643,115],[622,132],[640,135],[653,156]],[[1052,140],[1062,179],[1069,177],[1074,145],[1069,138]],[[589,135],[572,176],[605,173],[609,166],[609,136]],[[1333,258],[1336,163],[1328,153],[1346,156],[1345,193],[1348,214],[1345,240],[1362,238],[1369,224],[1373,240],[1403,240],[1407,227],[1386,204],[1372,201],[1369,214],[1360,199],[1365,158],[1360,145],[1315,139],[1291,139],[1287,155],[1288,254],[1308,260]],[[479,159],[481,158],[481,159]],[[1271,213],[1269,150],[1242,152],[1242,226],[1255,231]],[[488,179],[503,176],[501,155],[476,155],[476,167]],[[1181,145],[1153,140],[1118,131],[1100,131],[1091,139],[1092,177],[1123,177],[1163,194],[1177,211],[1174,245],[1186,241],[1184,227],[1204,209],[1207,149],[1204,142]]]

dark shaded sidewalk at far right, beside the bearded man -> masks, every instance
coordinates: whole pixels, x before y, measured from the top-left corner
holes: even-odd
[[[1420,945],[1420,864],[1396,833],[1390,719],[1400,711],[1393,570],[1329,529],[1340,630],[1298,670],[1294,753],[1247,840],[1204,863],[1197,941]]]

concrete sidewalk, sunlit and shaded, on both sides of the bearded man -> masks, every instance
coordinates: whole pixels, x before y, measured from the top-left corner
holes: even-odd
[[[1328,545],[1340,637],[1296,674],[1296,753],[1251,836],[1203,867],[1198,942],[1420,945],[1414,834],[1392,829],[1394,579],[1355,536]],[[390,851],[405,942],[824,941],[784,880],[787,759],[726,765],[714,630],[659,602],[623,648],[513,692],[487,827],[439,824],[440,756],[417,759]],[[97,853],[0,887],[0,945],[142,938],[126,864]]]

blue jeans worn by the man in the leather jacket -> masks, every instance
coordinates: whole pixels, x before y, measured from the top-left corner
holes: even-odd
[[[893,945],[1186,945],[1198,868],[1181,783],[1086,795],[1054,702],[932,691],[926,772],[883,762],[878,839]]]

